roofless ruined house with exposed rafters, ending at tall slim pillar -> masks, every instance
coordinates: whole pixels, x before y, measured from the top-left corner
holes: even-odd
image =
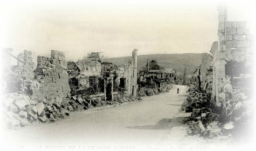
[[[68,62],[68,75],[73,79],[71,89],[90,89],[94,97],[104,96],[104,100],[113,100],[121,89],[125,95],[136,97],[137,49],[124,67],[87,58],[76,63]]]

